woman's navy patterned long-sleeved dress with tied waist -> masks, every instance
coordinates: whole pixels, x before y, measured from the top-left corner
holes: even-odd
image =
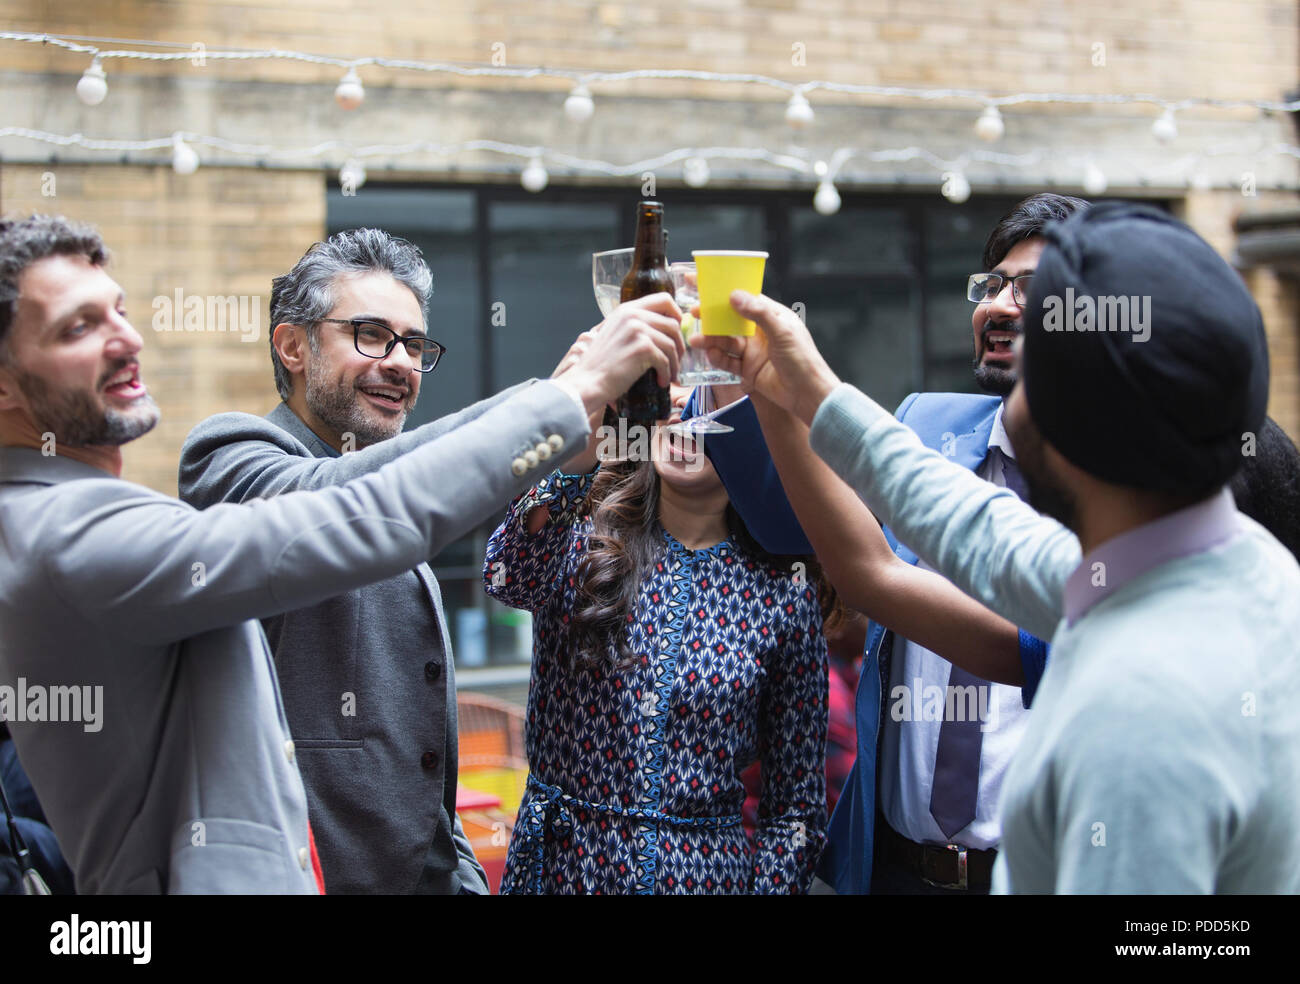
[[[593,473],[594,474],[594,473]],[[827,651],[815,590],[731,539],[663,549],[645,572],[630,669],[556,650],[590,520],[593,474],[552,473],[488,542],[488,591],[533,612],[530,775],[502,893],[806,892],[826,840]],[[536,536],[528,513],[551,508]],[[760,760],[753,841],[740,775]]]

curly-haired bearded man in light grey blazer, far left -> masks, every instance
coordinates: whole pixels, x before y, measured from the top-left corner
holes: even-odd
[[[524,447],[540,458],[546,445],[549,471],[646,369],[676,373],[680,312],[667,295],[624,304],[556,378],[402,445],[407,454],[382,467],[359,451],[263,486],[313,491],[199,512],[121,480],[122,445],[148,433],[159,408],[107,260],[88,226],[0,221],[0,712],[13,715],[79,893],[313,894],[307,755],[256,620],[396,578],[482,523],[536,481]],[[417,309],[350,316],[360,313],[403,334],[421,326]],[[422,355],[424,343],[394,346],[410,370],[408,346]],[[368,467],[348,472],[354,460]],[[447,481],[448,465],[472,478]],[[359,656],[354,640],[339,647]],[[318,654],[322,673],[337,658]],[[361,707],[406,697],[352,695]],[[330,823],[320,802],[311,809]]]

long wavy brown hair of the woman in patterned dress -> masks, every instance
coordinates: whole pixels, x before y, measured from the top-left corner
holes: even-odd
[[[624,669],[640,653],[628,646],[628,624],[641,590],[641,578],[663,549],[659,533],[659,473],[651,461],[602,464],[582,507],[592,517],[588,549],[578,562],[577,595],[569,615],[564,647],[575,666]],[[727,504],[732,542],[772,569],[802,562],[807,581],[818,591],[826,625],[842,619],[842,604],[811,555],[770,554],[745,528],[736,508]]]

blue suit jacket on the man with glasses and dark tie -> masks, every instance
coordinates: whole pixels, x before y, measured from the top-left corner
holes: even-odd
[[[922,443],[975,471],[988,455],[998,396],[965,393],[914,393],[894,416],[916,432]],[[718,469],[732,504],[750,533],[772,552],[811,552],[794,519],[776,468],[749,400],[720,415],[736,428],[732,434],[710,435],[705,452]],[[916,555],[898,543],[887,528],[885,539],[909,564]],[[831,816],[819,877],[841,894],[864,894],[871,888],[872,835],[876,816],[876,750],[889,690],[893,633],[872,621],[867,628],[862,675],[858,679],[858,757]]]

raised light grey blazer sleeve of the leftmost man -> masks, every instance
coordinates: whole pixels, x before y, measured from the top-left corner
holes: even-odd
[[[105,633],[147,645],[303,608],[416,567],[533,480],[514,473],[512,448],[554,435],[552,460],[564,461],[586,430],[572,396],[543,382],[317,491],[200,512],[146,489],[124,495],[117,480],[74,489],[42,517],[58,545],[46,560],[51,588]],[[447,481],[448,463],[458,481]]]

